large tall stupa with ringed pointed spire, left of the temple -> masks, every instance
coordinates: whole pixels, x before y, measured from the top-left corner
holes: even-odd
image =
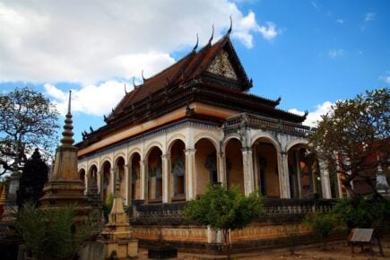
[[[40,198],[42,208],[60,208],[73,205],[77,214],[76,222],[83,221],[91,210],[84,195],[84,184],[77,172],[77,148],[74,146],[72,114],[72,91],[69,91],[68,111],[65,116],[63,138],[56,149],[53,172]]]

